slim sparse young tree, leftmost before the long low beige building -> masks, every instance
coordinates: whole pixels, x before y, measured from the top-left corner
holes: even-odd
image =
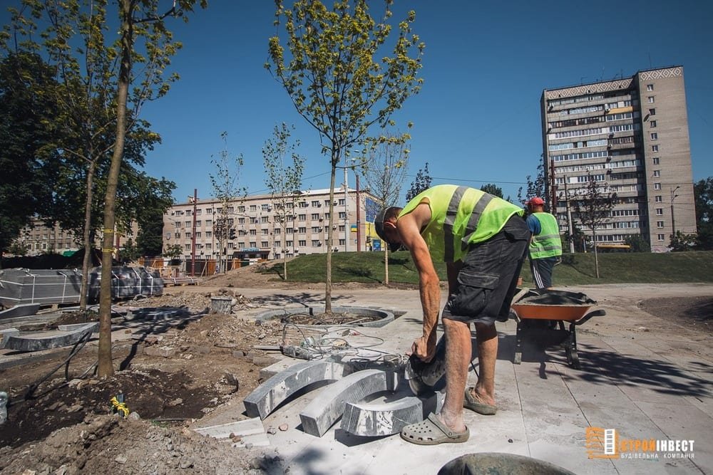
[[[227,271],[227,240],[235,221],[235,218],[232,217],[233,214],[228,211],[228,205],[238,197],[245,197],[247,190],[238,185],[243,164],[242,155],[231,158],[230,152],[227,150],[227,132],[222,132],[220,138],[224,147],[217,159],[210,160],[210,163],[215,166],[215,174],[211,173],[209,177],[213,193],[220,201],[220,209],[217,210],[218,217],[215,218],[213,232],[218,242],[218,271],[225,272]],[[225,261],[221,256],[224,245],[226,248]]]

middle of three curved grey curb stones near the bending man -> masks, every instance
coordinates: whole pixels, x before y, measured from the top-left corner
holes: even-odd
[[[342,416],[348,402],[358,402],[376,392],[393,391],[396,385],[394,373],[382,370],[362,370],[343,377],[328,387],[310,402],[299,414],[302,430],[307,434],[322,437],[329,427]]]

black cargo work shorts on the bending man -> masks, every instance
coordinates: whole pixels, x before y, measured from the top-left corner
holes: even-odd
[[[442,318],[493,325],[498,315],[507,315],[529,241],[527,224],[515,215],[491,239],[473,244],[463,257]]]

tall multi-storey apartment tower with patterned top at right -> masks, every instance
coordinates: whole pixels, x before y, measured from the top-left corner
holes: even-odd
[[[641,234],[666,251],[674,231],[696,232],[682,66],[545,89],[541,112],[545,189],[561,229],[591,176],[617,194],[597,244]]]

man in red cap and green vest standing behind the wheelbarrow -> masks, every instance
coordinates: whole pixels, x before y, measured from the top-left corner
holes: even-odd
[[[534,197],[527,202],[528,228],[532,233],[530,239],[530,271],[533,273],[533,283],[538,289],[552,288],[552,271],[562,256],[562,241],[557,219],[550,213],[545,213],[545,202],[540,197]]]

